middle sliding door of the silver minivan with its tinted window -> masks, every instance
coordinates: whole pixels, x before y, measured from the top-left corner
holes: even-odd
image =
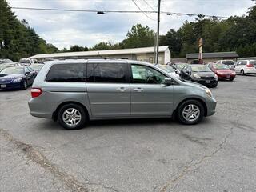
[[[89,62],[86,88],[93,118],[130,116],[126,62]]]

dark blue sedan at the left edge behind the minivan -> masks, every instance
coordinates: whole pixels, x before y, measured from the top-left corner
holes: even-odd
[[[0,72],[0,90],[24,89],[32,85],[36,73],[29,66],[10,66]]]

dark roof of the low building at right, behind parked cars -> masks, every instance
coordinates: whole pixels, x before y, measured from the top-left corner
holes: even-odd
[[[186,54],[186,58],[198,58],[199,54]],[[236,52],[202,53],[202,58],[238,58]]]

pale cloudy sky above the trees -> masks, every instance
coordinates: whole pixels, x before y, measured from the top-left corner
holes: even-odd
[[[157,10],[158,0],[7,0],[10,6],[74,9],[74,10]],[[190,14],[234,16],[246,14],[255,2],[251,0],[162,0],[161,10]],[[141,23],[157,29],[157,14],[96,14],[42,10],[14,10],[18,19],[30,26],[58,49],[71,45],[94,46],[98,42],[121,42],[131,26]],[[177,30],[186,20],[195,17],[161,15],[160,34],[171,28]]]

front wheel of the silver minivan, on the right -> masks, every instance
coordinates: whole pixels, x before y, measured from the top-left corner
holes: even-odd
[[[194,107],[194,109],[191,108],[192,106]],[[193,112],[194,110],[198,110],[198,113],[194,113]],[[190,116],[186,118],[185,116],[188,116],[190,113],[193,114],[193,117]],[[198,122],[202,121],[203,116],[204,116],[204,108],[202,106],[202,103],[198,102],[197,100],[194,100],[194,99],[187,100],[185,102],[182,102],[182,104],[178,106],[177,118],[179,122],[182,122],[182,124],[185,124],[185,125],[197,124]]]

